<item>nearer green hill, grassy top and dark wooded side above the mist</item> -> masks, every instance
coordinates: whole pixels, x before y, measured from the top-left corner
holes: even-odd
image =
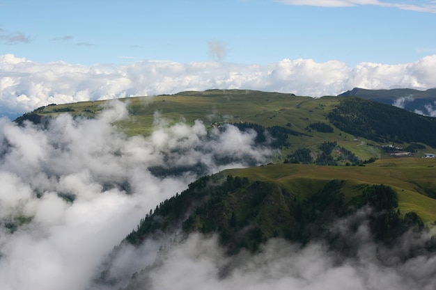
[[[274,236],[301,243],[329,240],[329,225],[369,204],[375,209],[368,216],[373,235],[391,243],[410,225],[435,223],[434,166],[403,159],[353,168],[272,164],[226,170],[159,204],[126,241],[139,245],[180,224],[186,233],[218,233],[230,252],[256,250]]]

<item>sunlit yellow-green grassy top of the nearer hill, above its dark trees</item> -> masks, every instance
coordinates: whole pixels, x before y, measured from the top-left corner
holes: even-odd
[[[366,166],[316,166],[271,164],[256,168],[226,170],[226,175],[251,180],[274,181],[299,198],[316,192],[331,179],[346,180],[345,198],[359,193],[364,184],[385,184],[398,193],[400,211],[416,211],[426,223],[436,221],[436,200],[419,193],[424,186],[436,188],[436,161],[433,159],[379,159]]]

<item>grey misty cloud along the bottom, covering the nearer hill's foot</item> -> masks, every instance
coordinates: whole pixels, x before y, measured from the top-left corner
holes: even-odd
[[[253,255],[242,250],[229,257],[217,236],[191,234],[187,239],[167,243],[158,249],[151,239],[133,250],[119,252],[116,285],[95,284],[97,289],[434,289],[436,256],[421,251],[428,236],[407,232],[394,245],[375,243],[362,209],[332,226],[355,248],[343,255],[322,242],[308,245],[271,239]],[[358,227],[355,229],[356,222]],[[366,222],[365,222],[366,221]],[[420,249],[419,253],[414,250]],[[132,250],[137,255],[132,255]],[[129,257],[129,259],[125,259]],[[123,261],[125,266],[122,266]],[[141,261],[136,264],[135,261]],[[136,274],[123,273],[132,265]],[[141,270],[142,269],[142,270]],[[124,274],[120,275],[121,273]],[[133,277],[133,278],[132,278]],[[124,278],[124,280],[123,280]],[[128,282],[130,280],[130,282]],[[126,287],[127,285],[127,287]],[[93,287],[91,289],[93,289]],[[126,287],[126,288],[124,288]]]

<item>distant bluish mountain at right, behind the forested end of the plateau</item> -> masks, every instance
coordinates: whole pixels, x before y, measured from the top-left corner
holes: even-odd
[[[410,88],[394,88],[390,90],[366,90],[353,88],[343,92],[340,97],[355,96],[371,99],[382,104],[404,108],[421,115],[436,116],[436,88],[414,90]]]

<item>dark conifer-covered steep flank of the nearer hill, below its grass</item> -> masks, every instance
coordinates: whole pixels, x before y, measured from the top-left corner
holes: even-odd
[[[202,177],[150,211],[125,240],[139,245],[153,234],[171,233],[182,223],[185,234],[218,233],[229,253],[240,248],[256,251],[272,237],[303,244],[324,239],[332,248],[342,250],[352,245],[344,245],[338,234],[331,231],[332,224],[366,207],[375,241],[394,243],[410,227],[424,229],[416,212],[401,214],[398,195],[391,186],[360,184],[352,196],[346,196],[347,183],[332,179],[320,182],[319,189],[307,188],[302,193],[277,182],[250,182],[247,177]]]

